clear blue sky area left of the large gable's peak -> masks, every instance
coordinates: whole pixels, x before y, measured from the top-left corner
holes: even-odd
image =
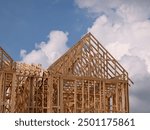
[[[51,30],[68,32],[68,46],[92,23],[73,0],[0,0],[0,44],[14,60],[47,40]]]

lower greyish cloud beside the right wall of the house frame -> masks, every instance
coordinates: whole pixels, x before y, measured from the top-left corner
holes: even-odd
[[[150,74],[147,71],[145,60],[137,56],[124,56],[121,63],[129,71],[135,85],[130,88],[131,112],[149,112],[149,84]],[[140,107],[142,106],[142,107]]]

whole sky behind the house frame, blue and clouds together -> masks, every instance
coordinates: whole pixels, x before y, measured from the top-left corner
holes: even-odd
[[[150,0],[0,0],[0,46],[48,67],[91,32],[129,72],[130,111],[150,112]]]

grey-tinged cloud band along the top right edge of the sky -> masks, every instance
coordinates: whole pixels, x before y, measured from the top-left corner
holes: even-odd
[[[150,16],[150,0],[75,0],[75,3],[79,8],[86,9],[90,13],[99,15],[105,13],[112,19],[115,18],[115,21],[116,15],[137,20]]]

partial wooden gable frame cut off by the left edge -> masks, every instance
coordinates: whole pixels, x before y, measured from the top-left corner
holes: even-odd
[[[14,68],[13,59],[0,47],[0,112],[12,111]]]

